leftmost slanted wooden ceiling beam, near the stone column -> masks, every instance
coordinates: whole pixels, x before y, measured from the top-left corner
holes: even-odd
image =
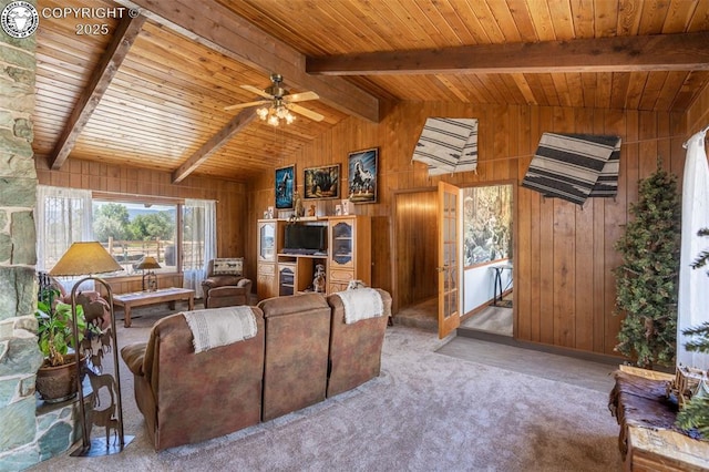
[[[113,39],[89,79],[86,89],[79,96],[52,154],[48,158],[50,168],[56,171],[66,162],[86,123],[91,119],[111,81],[141,32],[145,17],[125,16],[117,24]]]

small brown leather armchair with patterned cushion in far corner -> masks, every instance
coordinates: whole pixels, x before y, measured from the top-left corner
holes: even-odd
[[[239,267],[243,265],[242,258],[233,260],[237,261]],[[240,270],[232,274],[215,270],[215,259],[212,259],[207,265],[207,277],[202,281],[204,307],[220,308],[248,305],[251,285],[251,280],[242,276]]]

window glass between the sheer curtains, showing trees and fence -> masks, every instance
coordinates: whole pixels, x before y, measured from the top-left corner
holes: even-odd
[[[160,269],[177,271],[177,204],[93,199],[93,235],[123,267],[115,275],[141,274],[135,266],[154,257]]]

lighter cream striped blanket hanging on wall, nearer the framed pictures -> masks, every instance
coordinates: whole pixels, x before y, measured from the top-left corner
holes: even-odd
[[[477,168],[477,119],[425,120],[412,161],[429,166],[429,176]]]

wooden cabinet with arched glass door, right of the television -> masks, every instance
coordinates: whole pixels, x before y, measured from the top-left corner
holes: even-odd
[[[371,219],[333,216],[328,222],[328,293],[345,290],[350,280],[371,285]]]

